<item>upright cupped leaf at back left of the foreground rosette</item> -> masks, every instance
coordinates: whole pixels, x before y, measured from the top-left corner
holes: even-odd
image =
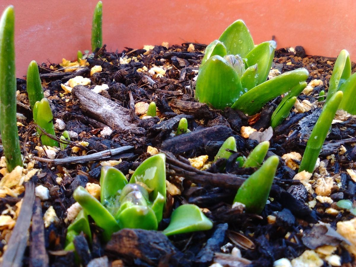
[[[114,167],[104,166],[100,174],[100,202],[111,213],[119,208],[120,191],[128,184],[125,175]]]

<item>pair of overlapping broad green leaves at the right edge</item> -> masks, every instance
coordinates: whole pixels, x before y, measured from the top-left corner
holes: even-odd
[[[336,59],[333,74],[330,77],[326,102],[337,92],[342,91],[344,97],[340,102],[339,109],[343,109],[352,115],[356,115],[356,73],[351,75],[351,61],[349,52],[341,50]]]

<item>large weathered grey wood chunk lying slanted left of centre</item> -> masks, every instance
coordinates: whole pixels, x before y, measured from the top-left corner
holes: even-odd
[[[83,85],[75,86],[72,94],[79,99],[80,108],[93,119],[117,130],[137,128],[138,121],[133,122],[131,111],[116,104],[114,101],[93,92]]]

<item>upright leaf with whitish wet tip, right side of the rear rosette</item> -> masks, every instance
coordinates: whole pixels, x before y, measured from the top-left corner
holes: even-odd
[[[260,43],[247,54],[247,66],[257,64],[257,84],[266,82],[268,73],[271,70],[272,61],[274,58],[274,51],[277,44],[274,41]]]

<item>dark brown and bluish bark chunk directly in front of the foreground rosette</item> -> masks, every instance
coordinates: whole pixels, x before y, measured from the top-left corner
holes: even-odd
[[[176,258],[182,257],[182,253],[172,245],[167,236],[158,231],[122,229],[112,234],[105,250],[124,258],[129,265],[133,264],[133,260],[136,265],[138,259],[151,266],[158,266],[167,256],[170,256],[172,266],[183,266],[185,261],[183,258]]]

